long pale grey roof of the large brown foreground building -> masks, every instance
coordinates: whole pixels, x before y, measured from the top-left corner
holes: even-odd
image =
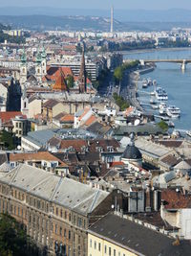
[[[59,177],[35,167],[21,164],[0,180],[11,186],[28,191],[33,196],[60,204],[73,209],[82,215],[87,215],[109,193],[91,188],[66,177]]]

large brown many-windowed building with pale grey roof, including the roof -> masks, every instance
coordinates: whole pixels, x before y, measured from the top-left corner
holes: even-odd
[[[24,224],[39,255],[87,255],[87,229],[112,201],[112,194],[25,164],[0,179],[0,212]]]

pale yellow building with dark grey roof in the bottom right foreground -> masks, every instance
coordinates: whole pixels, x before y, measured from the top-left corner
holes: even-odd
[[[173,256],[181,246],[189,255],[191,246],[187,250],[182,241],[175,247],[174,238],[139,222],[112,213],[96,221],[88,230],[88,256]]]

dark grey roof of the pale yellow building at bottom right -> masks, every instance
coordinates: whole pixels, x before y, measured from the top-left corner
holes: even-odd
[[[180,241],[180,245],[175,246],[172,238],[113,214],[97,221],[90,228],[90,233],[110,242],[112,240],[114,244],[120,244],[136,255],[188,256],[191,250],[189,241]]]

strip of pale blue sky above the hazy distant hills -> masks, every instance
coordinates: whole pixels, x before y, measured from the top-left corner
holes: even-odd
[[[0,7],[48,6],[55,8],[108,9],[190,9],[191,0],[0,0]]]

